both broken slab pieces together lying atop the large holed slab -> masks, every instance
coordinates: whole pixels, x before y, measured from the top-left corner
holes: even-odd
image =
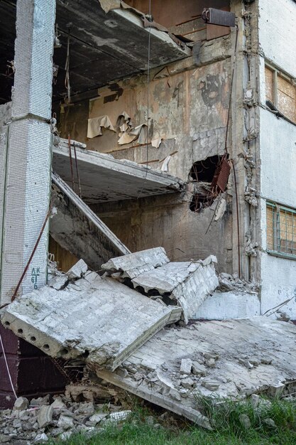
[[[111,259],[102,269],[109,274],[120,272],[117,277],[127,277],[128,284],[141,293],[182,307],[182,318],[188,323],[219,285],[215,263],[213,255],[204,261],[169,262],[165,250],[158,247]]]

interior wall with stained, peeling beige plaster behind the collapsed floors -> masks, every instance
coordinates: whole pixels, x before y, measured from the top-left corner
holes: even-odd
[[[232,33],[204,41],[198,59],[187,58],[150,73],[149,136],[163,139],[158,149],[148,144],[147,150],[146,144],[139,146],[137,142],[119,146],[118,135],[109,130],[103,130],[103,136],[89,139],[87,148],[138,163],[146,163],[148,159],[152,168],[160,168],[165,157],[171,155],[169,173],[187,181],[192,163],[224,153],[234,38]],[[131,116],[134,126],[147,122],[146,75],[110,85],[99,90],[99,95],[90,102],[87,117],[85,107],[80,107],[80,118],[75,115],[76,105],[69,107],[67,119],[62,122],[62,136],[67,136],[68,128],[77,119],[85,121],[106,114],[116,126],[123,111]],[[77,134],[77,139],[85,141],[84,130]],[[216,202],[201,213],[190,210],[192,184],[179,200],[172,196],[141,202],[128,200],[99,205],[93,210],[131,251],[163,245],[171,259],[215,254],[221,270],[233,272],[232,183],[231,176],[227,211],[219,221],[213,218]]]

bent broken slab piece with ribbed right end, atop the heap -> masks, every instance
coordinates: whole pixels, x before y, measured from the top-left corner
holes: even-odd
[[[133,287],[158,291],[182,307],[185,323],[193,318],[204,299],[218,286],[214,262],[169,262],[163,266],[138,274],[131,279]]]

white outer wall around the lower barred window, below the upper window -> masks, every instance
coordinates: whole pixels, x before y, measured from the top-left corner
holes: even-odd
[[[296,319],[296,261],[266,252],[266,198],[296,208],[296,126],[261,109],[261,313],[281,310]],[[273,316],[275,317],[275,315]]]

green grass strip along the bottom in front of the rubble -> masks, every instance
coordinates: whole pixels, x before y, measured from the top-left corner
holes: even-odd
[[[87,438],[73,434],[67,441],[51,441],[65,445],[294,445],[296,444],[296,402],[273,400],[271,405],[253,409],[250,402],[221,401],[213,404],[207,399],[198,400],[202,412],[209,417],[213,431],[198,428],[182,419],[161,421],[155,414],[155,424],[146,419],[151,409],[134,408],[131,417],[120,425],[106,427],[106,430]],[[251,427],[246,429],[240,422],[246,414]],[[273,419],[275,427],[265,424],[264,419]]]

